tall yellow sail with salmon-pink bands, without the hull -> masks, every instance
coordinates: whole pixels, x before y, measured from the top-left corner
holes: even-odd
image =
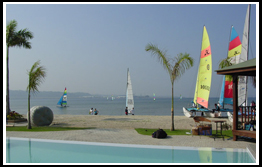
[[[204,26],[201,56],[197,74],[194,102],[208,108],[208,100],[212,78],[211,47],[206,27]]]

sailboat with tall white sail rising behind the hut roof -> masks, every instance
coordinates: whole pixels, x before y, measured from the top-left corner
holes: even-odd
[[[248,60],[248,49],[249,49],[249,27],[250,27],[250,9],[251,5],[247,7],[243,37],[242,37],[242,52],[237,59],[236,63],[241,63]],[[238,81],[238,104],[245,105],[247,103],[247,77],[240,76]],[[227,112],[228,119],[233,122],[233,113]]]

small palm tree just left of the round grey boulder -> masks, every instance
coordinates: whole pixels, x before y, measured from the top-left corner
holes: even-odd
[[[31,120],[30,120],[30,92],[32,91],[34,93],[38,91],[38,86],[43,82],[43,79],[46,76],[45,68],[43,66],[40,66],[40,61],[34,63],[31,70],[28,72],[28,76],[29,76],[29,84],[26,88],[26,90],[28,90],[27,129],[32,129]]]

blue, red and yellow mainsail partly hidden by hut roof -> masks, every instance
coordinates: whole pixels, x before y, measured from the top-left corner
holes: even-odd
[[[235,28],[232,26],[227,56],[231,58],[230,62],[232,64],[237,64],[239,62],[241,48],[242,44],[240,38]],[[233,105],[233,81],[229,76],[225,76],[224,103]]]

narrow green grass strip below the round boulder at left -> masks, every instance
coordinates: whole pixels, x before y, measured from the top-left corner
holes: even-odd
[[[93,129],[93,128],[32,126],[32,129],[27,129],[27,126],[6,127],[6,131],[25,131],[25,132],[65,131],[65,130],[83,130],[83,129]]]

